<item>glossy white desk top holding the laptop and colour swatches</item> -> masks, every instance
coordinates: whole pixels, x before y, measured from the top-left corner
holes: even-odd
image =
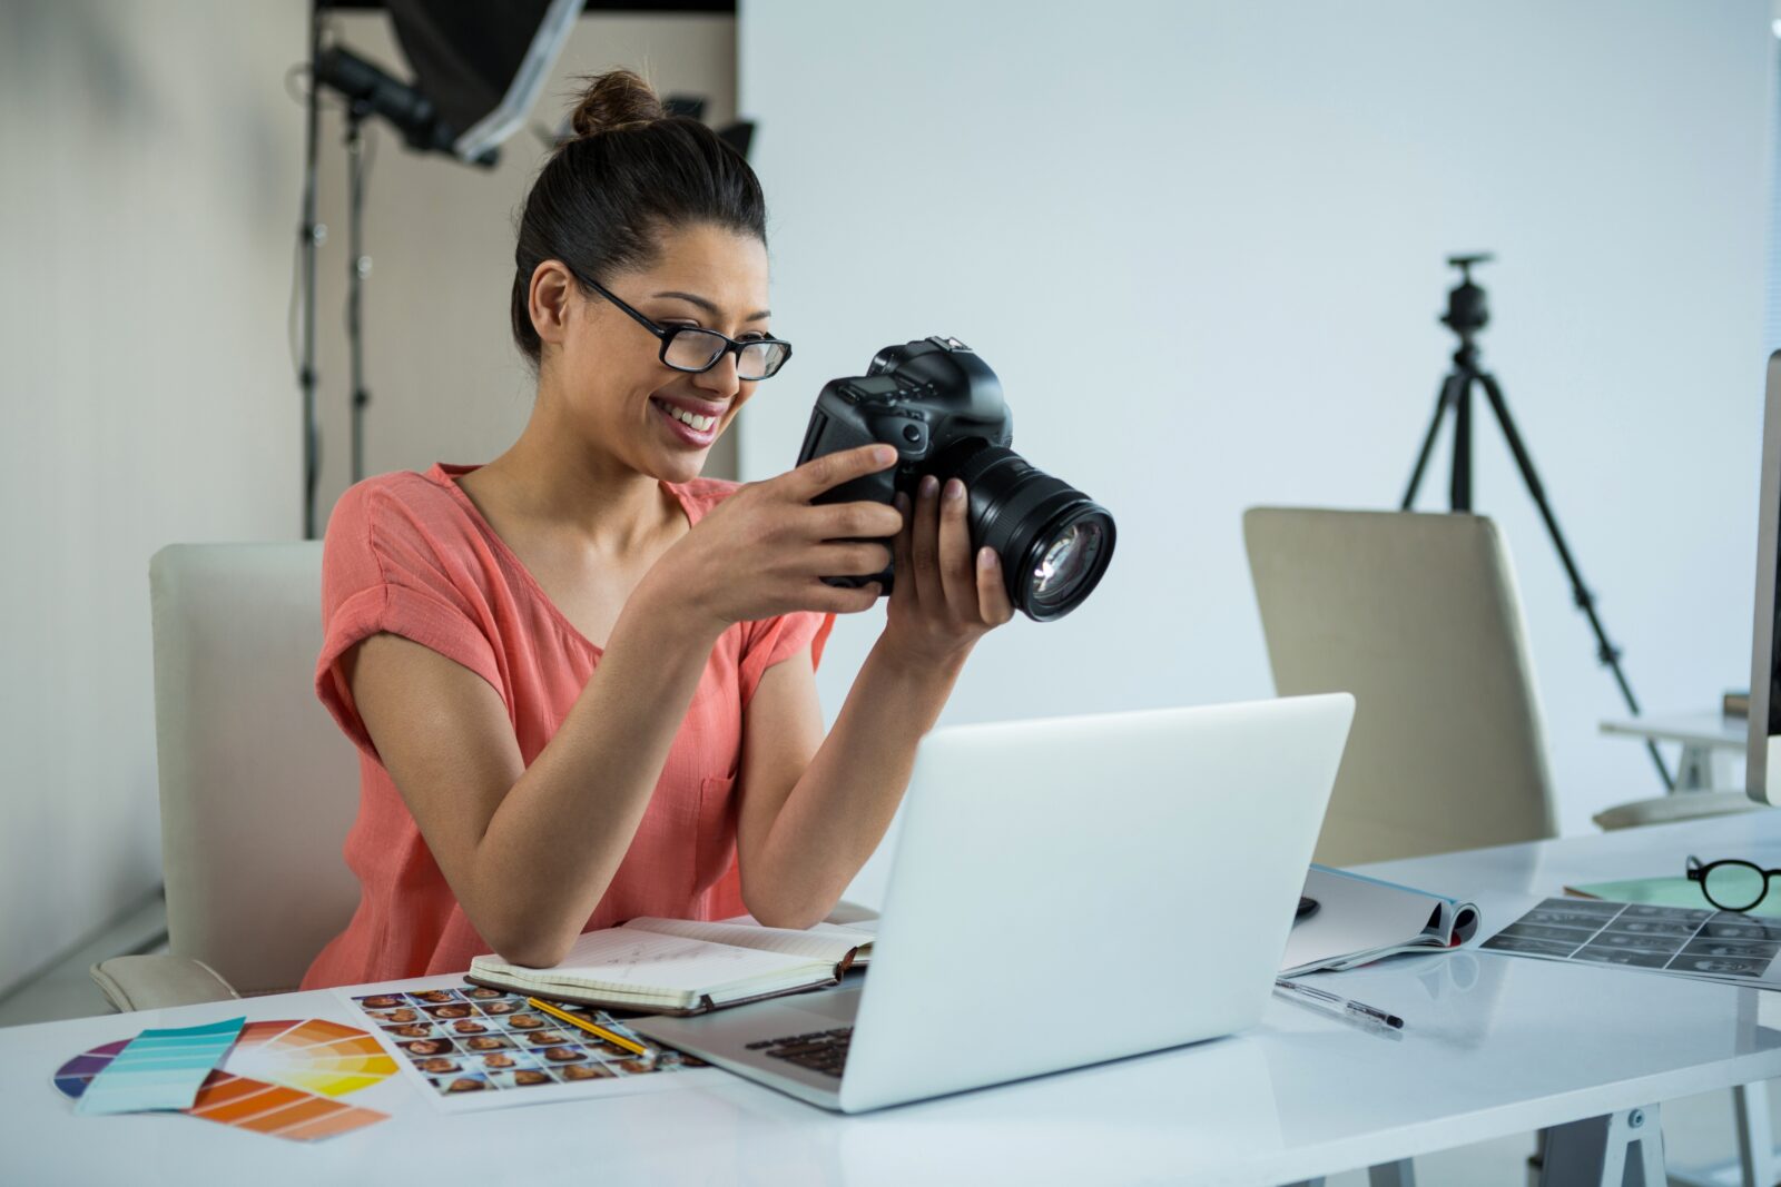
[[[1781,815],[1371,870],[1471,897],[1492,931],[1565,881],[1672,870],[1685,852],[1781,867]],[[1781,1077],[1781,995],[1756,989],[1471,950],[1322,982],[1402,1014],[1403,1036],[1275,998],[1238,1038],[858,1118],[743,1080],[445,1116],[392,1078],[347,1098],[390,1121],[315,1146],[180,1116],[77,1118],[50,1073],[144,1025],[242,1011],[349,1021],[329,993],[18,1027],[0,1030],[0,1180],[1279,1183]]]

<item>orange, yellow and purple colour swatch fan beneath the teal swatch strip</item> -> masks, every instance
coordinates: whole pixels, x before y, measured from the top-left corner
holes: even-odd
[[[75,1055],[55,1073],[55,1087],[78,1098],[130,1045],[118,1039]],[[388,1114],[346,1105],[346,1096],[395,1075],[378,1039],[354,1027],[306,1018],[248,1023],[223,1066],[210,1073],[189,1112],[256,1134],[297,1141],[331,1137],[383,1121]]]

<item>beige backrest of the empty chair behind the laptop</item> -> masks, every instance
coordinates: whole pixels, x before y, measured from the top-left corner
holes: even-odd
[[[1496,525],[1256,507],[1243,537],[1275,690],[1355,696],[1318,861],[1553,835],[1533,662]]]

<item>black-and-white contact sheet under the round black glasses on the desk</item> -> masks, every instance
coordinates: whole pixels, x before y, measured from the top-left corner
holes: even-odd
[[[1480,947],[1781,989],[1781,920],[1599,899],[1546,899]]]

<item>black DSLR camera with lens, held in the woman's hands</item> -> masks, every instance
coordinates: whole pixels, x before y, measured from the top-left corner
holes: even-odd
[[[923,338],[885,347],[864,375],[823,384],[810,411],[798,464],[883,443],[898,464],[825,491],[816,502],[915,502],[931,473],[965,484],[971,548],[1001,557],[1008,600],[1028,618],[1063,618],[1094,591],[1113,559],[1113,516],[1069,482],[1015,454],[1013,415],[996,372],[958,338]],[[894,573],[830,577],[834,585],[880,582]]]

